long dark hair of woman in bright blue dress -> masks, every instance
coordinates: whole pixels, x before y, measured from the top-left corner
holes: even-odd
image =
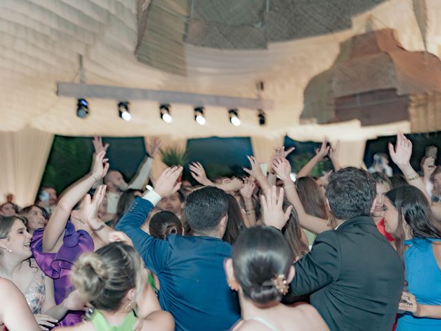
[[[404,226],[409,226],[413,237],[441,239],[441,224],[433,217],[429,201],[424,194],[411,185],[401,185],[386,193],[398,211],[398,227],[391,233],[396,241],[398,254],[404,254]],[[404,223],[405,222],[405,223]]]

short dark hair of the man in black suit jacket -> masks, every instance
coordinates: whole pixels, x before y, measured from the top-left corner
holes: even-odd
[[[369,216],[376,194],[376,183],[371,174],[353,167],[331,174],[326,188],[331,212],[342,220]]]

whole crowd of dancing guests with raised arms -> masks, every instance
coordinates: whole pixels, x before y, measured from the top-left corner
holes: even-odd
[[[153,139],[127,183],[93,140],[90,173],[60,197],[0,205],[0,325],[50,330],[441,330],[441,167],[411,166],[398,134],[371,168],[341,168],[327,141],[291,176],[152,178]],[[311,177],[331,159],[334,171]],[[382,168],[379,164],[387,165]],[[152,190],[144,190],[152,181]],[[8,298],[7,300],[5,298]]]

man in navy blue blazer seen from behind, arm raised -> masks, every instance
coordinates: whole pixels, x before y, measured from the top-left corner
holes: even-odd
[[[159,279],[159,302],[170,312],[176,330],[228,330],[240,317],[236,292],[229,289],[223,262],[232,247],[222,240],[227,226],[227,194],[206,187],[187,197],[184,217],[194,235],[176,234],[154,239],[141,230],[154,205],[176,192],[182,168],[168,168],[156,181],[154,191],[136,198],[119,221],[121,230],[132,239],[147,268]]]

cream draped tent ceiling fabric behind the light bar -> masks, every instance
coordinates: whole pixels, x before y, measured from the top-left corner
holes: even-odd
[[[220,6],[221,3],[228,5],[242,1],[209,2]],[[1,0],[0,131],[18,131],[31,126],[65,135],[121,137],[170,134],[176,138],[211,135],[278,137],[286,132],[290,132],[293,138],[296,138],[296,132],[303,132],[302,137],[305,138],[307,132],[308,139],[321,139],[331,126],[322,126],[320,130],[315,126],[311,126],[311,130],[299,126],[303,91],[312,77],[327,70],[336,61],[340,42],[365,32],[368,18],[373,17],[375,30],[393,28],[397,30],[398,40],[405,49],[424,50],[412,1],[377,1],[378,5],[373,6],[375,1],[304,0],[295,1],[297,7],[285,7],[293,2],[269,1],[270,11],[267,14],[262,13],[266,7],[260,4],[257,6],[260,8],[258,13],[243,17],[242,14],[236,16],[228,12],[216,16],[216,12],[209,12],[210,8],[201,5],[202,0],[194,1],[192,19],[201,22],[204,29],[207,25],[218,26],[225,20],[246,26],[256,22],[262,14],[267,16],[265,27],[268,29],[271,26],[268,23],[271,10],[283,12],[284,8],[288,8],[290,14],[282,14],[287,14],[285,19],[291,25],[286,29],[275,26],[274,32],[269,33],[271,37],[265,34],[265,45],[260,39],[253,41],[250,40],[252,37],[238,37],[238,43],[243,40],[249,45],[246,49],[227,49],[231,48],[226,47],[231,41],[219,45],[222,49],[214,48],[214,45],[201,47],[209,42],[204,37],[207,30],[196,30],[197,33],[194,33],[200,35],[199,38],[195,37],[196,34],[185,32],[181,36],[182,43],[176,47],[166,41],[165,36],[161,43],[156,43],[156,47],[157,54],[167,51],[167,56],[165,53],[162,57],[157,55],[154,61],[162,60],[165,69],[167,61],[175,59],[176,67],[184,70],[172,74],[172,70],[153,68],[156,66],[154,63],[150,66],[141,63],[135,55],[139,37],[136,0]],[[322,6],[307,6],[313,2]],[[349,6],[349,2],[354,5]],[[441,15],[441,1],[426,2],[429,16],[427,48],[438,55],[441,25],[435,18]],[[158,10],[165,11],[164,3],[181,8],[175,8],[176,11],[183,10],[181,17],[174,15],[174,25],[167,28],[172,31],[182,28],[187,23],[185,10],[191,13],[192,7],[178,6],[187,1],[152,0],[148,10],[154,10],[156,6]],[[265,1],[255,3],[265,4]],[[328,3],[329,7],[325,6]],[[332,30],[334,33],[325,31],[322,26],[325,22],[330,24],[332,21],[329,19],[339,21],[335,19],[337,16],[333,18],[330,14],[331,4],[347,13],[345,19],[338,22],[342,25]],[[201,9],[202,6],[205,9]],[[150,23],[160,27],[167,22],[163,21],[165,14],[161,15],[154,15]],[[333,15],[337,15],[336,12]],[[232,33],[236,32],[232,30]],[[147,38],[146,35],[144,37]],[[190,37],[196,45],[189,43]],[[219,43],[218,39],[213,39],[213,42]],[[256,44],[263,47],[258,48]],[[243,124],[236,128],[229,123],[225,109],[207,107],[207,125],[202,127],[194,121],[192,107],[196,105],[172,105],[174,119],[167,125],[159,118],[157,103],[133,101],[132,121],[125,122],[117,115],[116,101],[90,99],[89,117],[79,119],[75,112],[76,100],[57,97],[55,93],[57,81],[79,82],[79,54],[83,55],[85,76],[90,84],[256,97],[256,82],[262,80],[265,81],[263,97],[274,100],[275,110],[267,113],[267,126],[264,128],[258,126],[255,110],[240,110]],[[354,134],[363,136],[364,130],[359,126],[347,126],[344,132],[339,132],[339,137],[353,139]],[[369,130],[371,137],[372,131]],[[378,133],[384,132],[378,129]]]

